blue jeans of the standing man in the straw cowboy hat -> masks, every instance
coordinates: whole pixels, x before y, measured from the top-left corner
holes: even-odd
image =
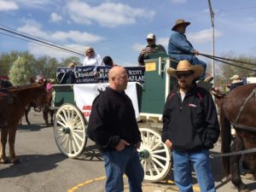
[[[181,153],[174,150],[172,155],[174,180],[180,192],[193,192],[192,164],[201,192],[216,191],[208,150],[201,150],[196,153]]]

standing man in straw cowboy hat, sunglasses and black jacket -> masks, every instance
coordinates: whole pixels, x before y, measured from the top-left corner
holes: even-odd
[[[218,116],[211,94],[195,84],[204,72],[201,65],[179,61],[167,73],[177,78],[177,88],[166,99],[162,142],[173,149],[174,180],[181,192],[192,189],[192,165],[201,191],[216,191],[209,149],[219,136]]]

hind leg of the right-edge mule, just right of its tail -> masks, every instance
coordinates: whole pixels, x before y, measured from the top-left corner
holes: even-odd
[[[240,151],[243,149],[243,143],[239,137],[236,137],[235,142],[231,145],[230,151]],[[230,156],[230,173],[231,182],[236,186],[239,192],[249,192],[247,185],[242,183],[240,176],[240,159],[241,155]]]

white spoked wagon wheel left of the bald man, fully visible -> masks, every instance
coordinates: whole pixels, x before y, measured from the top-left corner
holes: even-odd
[[[55,113],[55,142],[62,154],[78,157],[87,142],[86,121],[79,108],[63,104]]]

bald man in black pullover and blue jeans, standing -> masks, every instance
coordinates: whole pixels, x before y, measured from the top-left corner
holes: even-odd
[[[106,192],[124,191],[124,173],[130,192],[142,192],[144,172],[137,153],[141,134],[131,99],[125,94],[128,75],[124,67],[113,67],[108,78],[109,86],[92,104],[88,135],[103,154]]]

